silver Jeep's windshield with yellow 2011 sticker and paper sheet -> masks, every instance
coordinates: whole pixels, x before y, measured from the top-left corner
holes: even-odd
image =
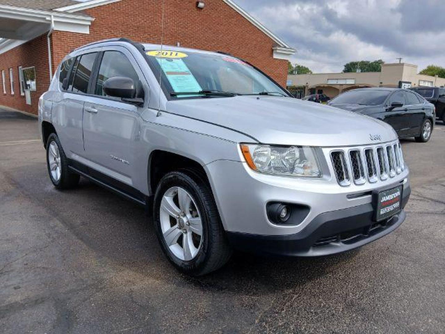
[[[244,94],[288,94],[267,76],[246,62],[225,54],[193,51],[146,51],[147,60],[167,98],[201,98]],[[201,94],[198,94],[201,92]],[[218,94],[218,93],[232,93]],[[179,94],[177,94],[179,93]],[[195,93],[195,94],[181,94]],[[204,94],[206,93],[206,94]]]

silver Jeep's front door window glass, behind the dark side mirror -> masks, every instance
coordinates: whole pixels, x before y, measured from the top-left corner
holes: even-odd
[[[102,86],[110,77],[129,77],[138,85],[138,73],[125,55],[119,51],[105,51],[97,75],[94,94],[105,96]]]

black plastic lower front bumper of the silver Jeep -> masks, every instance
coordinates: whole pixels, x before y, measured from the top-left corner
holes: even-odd
[[[409,186],[402,194],[402,211],[388,220],[372,220],[371,203],[332,212],[313,219],[299,233],[281,236],[227,232],[232,247],[264,255],[295,257],[324,256],[363,246],[387,235],[405,220],[405,208],[411,194]]]

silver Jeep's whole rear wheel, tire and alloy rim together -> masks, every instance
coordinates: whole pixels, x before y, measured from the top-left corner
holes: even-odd
[[[57,134],[50,134],[46,142],[46,164],[49,178],[57,189],[70,189],[79,183],[80,175],[68,169],[68,159]]]

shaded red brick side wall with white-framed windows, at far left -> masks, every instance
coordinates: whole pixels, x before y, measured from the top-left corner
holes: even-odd
[[[35,66],[36,91],[31,92],[31,105],[20,95],[19,66]],[[11,94],[9,69],[12,68],[14,95]],[[5,73],[6,94],[3,94],[1,70]],[[0,105],[37,114],[39,97],[49,86],[48,43],[46,34],[0,54]]]

